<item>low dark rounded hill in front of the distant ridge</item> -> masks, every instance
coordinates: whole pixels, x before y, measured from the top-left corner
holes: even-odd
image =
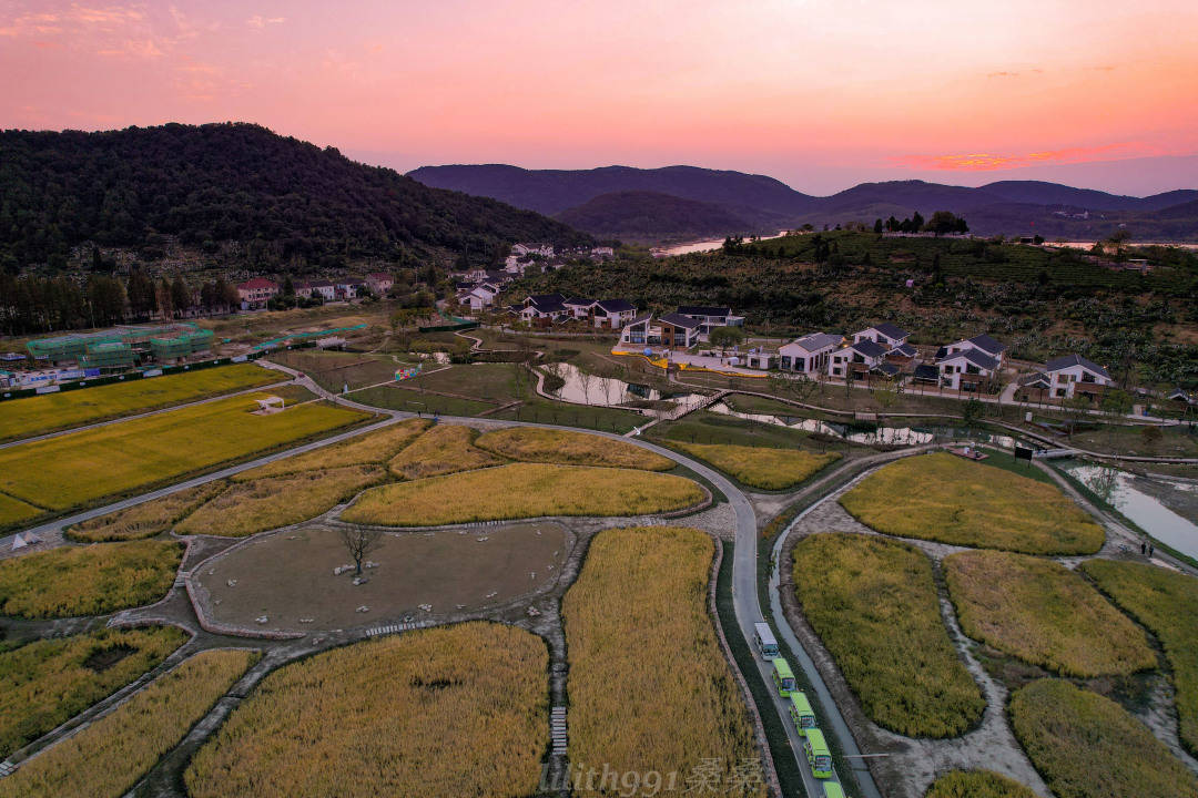
[[[721,206],[657,191],[600,194],[555,218],[599,238],[625,242],[686,240],[752,230]]]

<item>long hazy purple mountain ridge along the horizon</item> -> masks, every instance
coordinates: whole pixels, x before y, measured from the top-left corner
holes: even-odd
[[[925,217],[933,211],[952,211],[966,215],[970,230],[980,234],[1088,238],[1108,236],[1126,226],[1140,239],[1198,239],[1198,212],[1188,205],[1198,200],[1198,190],[1193,189],[1135,197],[1043,181],[997,181],[978,188],[890,181],[861,183],[819,197],[795,191],[772,177],[697,166],[527,170],[485,164],[422,166],[409,176],[426,185],[490,196],[562,220],[574,218],[576,226],[597,234],[605,232],[586,227],[587,217],[571,217],[570,209],[599,196],[649,191],[716,206],[744,221],[742,227],[704,234],[774,232],[803,224],[872,224],[877,218],[901,219],[914,211]],[[618,208],[610,200],[606,206],[610,230]],[[637,207],[629,208],[625,215],[645,218],[646,211],[641,197]],[[686,234],[664,207],[653,215],[662,224],[652,231],[640,227],[642,239],[651,239],[654,233],[660,239]]]

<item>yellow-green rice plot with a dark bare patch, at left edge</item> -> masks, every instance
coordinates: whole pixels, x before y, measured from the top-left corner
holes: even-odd
[[[0,757],[157,668],[186,642],[175,627],[103,629],[0,652]]]

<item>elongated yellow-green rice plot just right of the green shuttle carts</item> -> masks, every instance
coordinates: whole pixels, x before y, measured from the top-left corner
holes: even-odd
[[[954,737],[986,701],[949,639],[919,549],[873,535],[819,534],[794,547],[803,614],[861,708],[909,737]]]

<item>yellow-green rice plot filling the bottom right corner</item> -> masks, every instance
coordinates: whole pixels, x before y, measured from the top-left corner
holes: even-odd
[[[1011,726],[1057,798],[1196,798],[1198,779],[1097,693],[1043,678],[1011,695]]]

